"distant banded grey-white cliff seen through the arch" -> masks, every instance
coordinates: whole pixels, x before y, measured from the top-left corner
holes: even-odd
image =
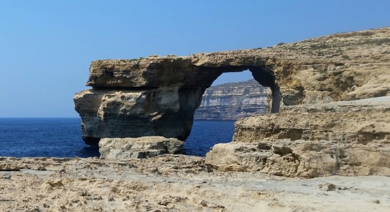
[[[209,87],[195,111],[195,120],[237,120],[267,112],[270,89],[256,80],[225,83]]]

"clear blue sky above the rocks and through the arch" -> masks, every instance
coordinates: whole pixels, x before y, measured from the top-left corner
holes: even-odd
[[[387,27],[389,11],[390,0],[0,0],[0,117],[78,117],[92,60],[268,47]]]

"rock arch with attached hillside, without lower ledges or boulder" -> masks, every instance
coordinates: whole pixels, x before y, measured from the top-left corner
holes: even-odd
[[[76,94],[85,142],[162,136],[185,141],[207,87],[223,72],[249,70],[280,105],[390,95],[390,28],[328,35],[265,49],[99,60]]]

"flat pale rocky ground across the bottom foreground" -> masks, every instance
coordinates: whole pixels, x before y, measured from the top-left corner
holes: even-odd
[[[389,177],[218,172],[200,157],[0,158],[2,212],[388,212]]]

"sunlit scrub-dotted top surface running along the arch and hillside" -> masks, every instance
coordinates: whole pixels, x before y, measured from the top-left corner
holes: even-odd
[[[256,66],[271,58],[311,64],[314,61],[332,63],[380,63],[390,61],[390,27],[374,30],[340,33],[306,39],[296,43],[279,43],[268,48],[242,49],[212,53],[196,53],[190,56],[157,56],[146,58],[97,60],[92,65],[102,64],[158,64],[176,63],[187,66],[224,67]],[[309,60],[308,60],[309,59]],[[95,67],[94,67],[95,68]],[[94,69],[91,70],[92,72]]]

